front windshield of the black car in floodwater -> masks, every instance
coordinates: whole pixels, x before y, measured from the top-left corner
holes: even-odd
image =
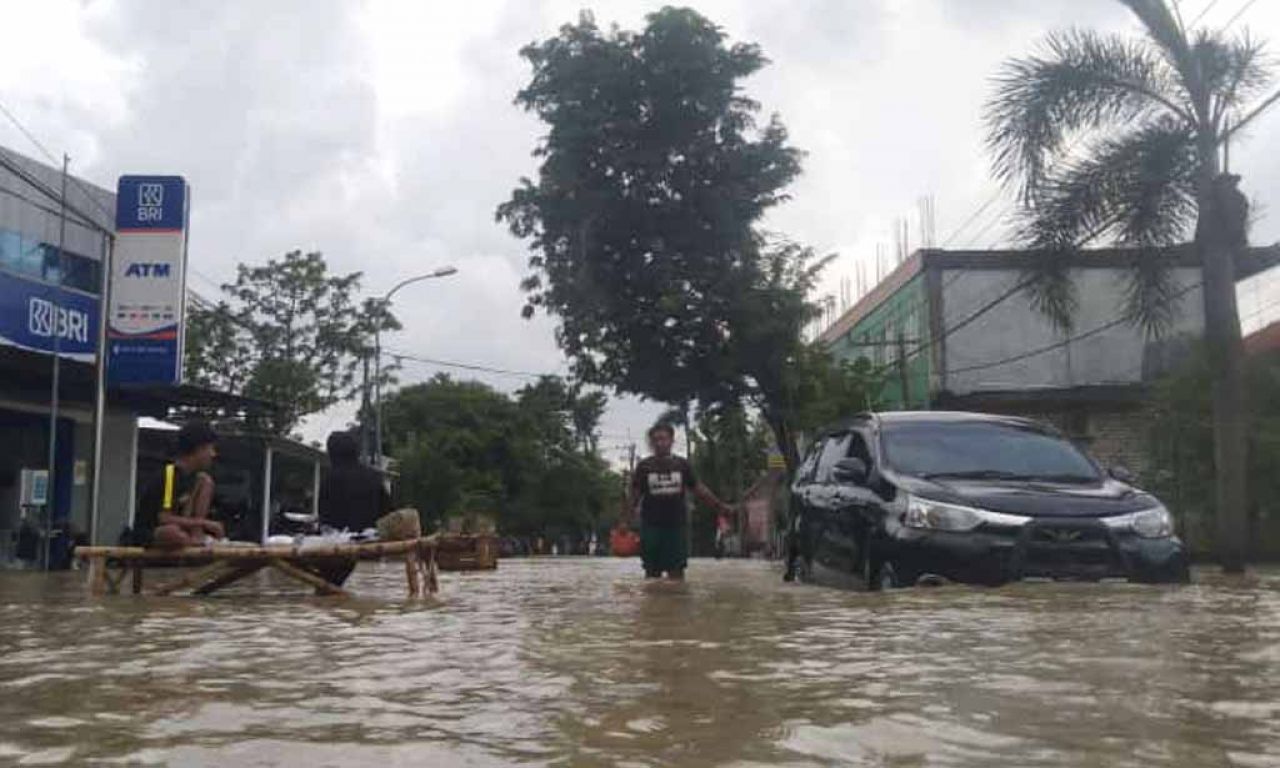
[[[884,461],[916,477],[1092,483],[1098,468],[1062,438],[1014,424],[888,424]]]

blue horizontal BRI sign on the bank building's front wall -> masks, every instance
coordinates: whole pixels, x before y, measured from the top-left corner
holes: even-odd
[[[0,343],[91,362],[97,298],[0,271]]]

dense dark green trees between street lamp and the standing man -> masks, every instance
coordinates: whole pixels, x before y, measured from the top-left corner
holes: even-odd
[[[428,520],[488,513],[512,534],[593,529],[621,494],[591,448],[598,403],[553,376],[515,397],[447,375],[401,389],[384,412],[402,500]]]

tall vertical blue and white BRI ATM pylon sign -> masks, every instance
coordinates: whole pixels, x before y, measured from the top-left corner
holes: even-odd
[[[182,381],[189,197],[182,177],[120,177],[106,326],[113,384]]]

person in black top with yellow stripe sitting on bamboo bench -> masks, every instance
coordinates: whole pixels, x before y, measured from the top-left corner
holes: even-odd
[[[200,547],[206,538],[221,539],[221,524],[209,520],[214,479],[209,470],[218,457],[218,434],[204,421],[178,430],[178,454],[166,463],[138,504],[136,543],[180,549]]]

